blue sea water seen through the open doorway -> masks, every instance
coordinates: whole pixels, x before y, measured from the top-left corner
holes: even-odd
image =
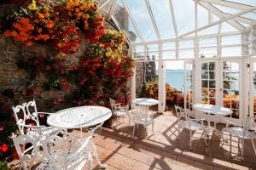
[[[182,70],[166,70],[166,82],[172,88],[177,88],[178,91],[183,91],[184,71]]]

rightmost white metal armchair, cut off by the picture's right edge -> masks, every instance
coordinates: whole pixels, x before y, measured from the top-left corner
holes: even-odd
[[[224,127],[221,130],[221,137],[223,139],[224,144],[224,133],[230,133],[230,135],[236,136],[238,138],[238,145],[240,144],[241,140],[241,156],[244,155],[244,140],[251,139],[253,143],[253,139],[256,139],[256,127],[255,127],[255,120],[256,117],[253,116],[247,116],[245,123],[241,126],[236,124],[235,122],[230,122],[228,120],[225,120],[226,127]],[[254,130],[250,130],[252,127],[254,127]],[[255,145],[253,143],[253,149],[256,154]]]

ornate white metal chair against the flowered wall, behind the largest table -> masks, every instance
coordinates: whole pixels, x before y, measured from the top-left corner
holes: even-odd
[[[34,99],[28,103],[13,106],[13,111],[20,134],[44,136],[58,133],[58,129],[55,127],[40,125],[38,116],[49,115],[51,113],[38,112]]]

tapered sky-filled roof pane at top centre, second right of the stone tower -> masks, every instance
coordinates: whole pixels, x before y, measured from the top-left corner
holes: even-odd
[[[148,2],[160,32],[160,37],[162,39],[175,37],[169,0],[161,0],[161,2],[149,0]]]

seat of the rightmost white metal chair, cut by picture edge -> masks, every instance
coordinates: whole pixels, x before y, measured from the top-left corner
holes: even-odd
[[[224,127],[222,131],[231,133],[232,135],[241,139],[256,139],[255,133],[251,133],[247,130],[245,130],[244,136],[242,136],[242,133],[243,133],[242,127]]]

